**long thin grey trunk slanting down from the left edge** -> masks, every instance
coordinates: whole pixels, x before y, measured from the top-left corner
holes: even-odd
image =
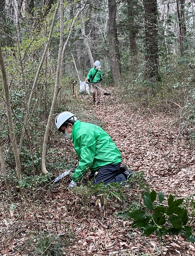
[[[0,45],[0,69],[1,69],[1,74],[2,74],[4,96],[5,96],[5,103],[6,103],[6,109],[7,109],[9,135],[11,138],[11,144],[13,147],[14,158],[15,158],[15,163],[16,163],[16,173],[17,173],[18,180],[21,181],[22,172],[21,172],[21,165],[20,165],[20,159],[19,159],[19,151],[18,151],[18,147],[17,147],[17,143],[16,143],[15,130],[14,130],[14,125],[13,125],[13,120],[12,120],[12,110],[11,110],[10,100],[9,100],[9,88],[8,88],[7,75],[6,75],[5,63],[3,60],[1,45]],[[21,193],[21,196],[25,195],[23,188],[20,188],[20,193]]]

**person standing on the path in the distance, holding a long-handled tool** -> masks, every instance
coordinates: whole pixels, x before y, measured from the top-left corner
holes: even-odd
[[[93,98],[93,105],[95,105],[95,93],[97,91],[97,105],[100,105],[100,97],[102,90],[95,87],[93,84],[101,88],[102,81],[102,71],[101,71],[100,61],[96,60],[93,64],[93,68],[89,70],[86,78],[86,82],[91,83],[91,91]]]

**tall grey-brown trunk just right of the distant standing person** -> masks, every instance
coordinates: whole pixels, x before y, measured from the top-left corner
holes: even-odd
[[[109,54],[110,54],[110,64],[114,84],[117,84],[118,80],[121,78],[121,63],[120,63],[120,53],[119,53],[119,43],[117,37],[116,29],[116,12],[117,5],[116,0],[108,0],[109,9]]]

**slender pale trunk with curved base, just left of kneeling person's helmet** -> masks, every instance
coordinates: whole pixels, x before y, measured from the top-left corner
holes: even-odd
[[[63,0],[59,0],[60,4],[60,42],[59,42],[59,50],[58,50],[58,60],[57,60],[57,69],[56,69],[56,83],[55,83],[55,90],[54,96],[52,100],[52,105],[46,125],[46,132],[43,141],[43,149],[42,149],[42,158],[41,158],[41,168],[44,174],[47,173],[46,170],[46,146],[47,141],[49,138],[49,132],[51,130],[51,122],[54,114],[54,109],[56,107],[56,99],[59,93],[59,86],[60,86],[60,72],[61,72],[61,60],[62,60],[62,49],[63,49],[63,36],[64,36],[64,14],[63,14]]]

